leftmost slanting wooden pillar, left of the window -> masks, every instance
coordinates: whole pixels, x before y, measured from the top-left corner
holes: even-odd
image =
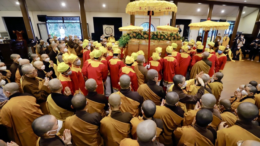
[[[23,18],[24,23],[25,23],[27,35],[28,35],[29,39],[35,40],[35,36],[33,34],[33,29],[32,29],[32,23],[31,23],[31,20],[30,20],[30,17],[29,17],[26,2],[25,2],[25,0],[18,0],[18,2],[19,2],[19,5],[20,5],[20,8],[21,8],[22,18]],[[18,30],[18,31],[21,31],[21,30]]]

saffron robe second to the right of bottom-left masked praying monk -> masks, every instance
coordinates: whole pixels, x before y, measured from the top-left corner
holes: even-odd
[[[104,140],[104,146],[119,146],[121,140],[130,138],[131,124],[117,121],[110,117],[100,121],[99,132]]]

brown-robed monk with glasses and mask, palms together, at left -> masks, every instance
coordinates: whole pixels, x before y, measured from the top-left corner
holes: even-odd
[[[22,90],[24,93],[32,94],[40,105],[40,109],[43,114],[48,114],[46,108],[46,100],[50,95],[51,90],[48,89],[49,79],[45,80],[44,83],[37,79],[37,70],[31,65],[26,65],[22,68],[24,76],[21,78]]]

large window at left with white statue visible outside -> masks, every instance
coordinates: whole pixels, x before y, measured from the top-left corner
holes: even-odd
[[[79,17],[47,17],[46,25],[48,34],[56,35],[58,40],[69,35],[82,36]]]

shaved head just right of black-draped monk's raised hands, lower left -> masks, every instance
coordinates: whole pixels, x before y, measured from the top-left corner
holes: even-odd
[[[71,99],[73,109],[76,111],[83,110],[87,105],[87,99],[83,94],[76,94]]]

